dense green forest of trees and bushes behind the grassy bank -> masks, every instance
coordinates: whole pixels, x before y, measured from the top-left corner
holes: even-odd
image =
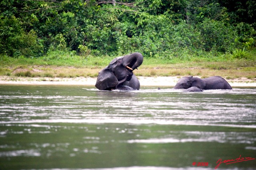
[[[246,58],[255,14],[254,0],[1,0],[0,55]]]

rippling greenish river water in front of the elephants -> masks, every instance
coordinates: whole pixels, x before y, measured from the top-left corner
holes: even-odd
[[[252,170],[255,158],[256,88],[0,86],[0,170]]]

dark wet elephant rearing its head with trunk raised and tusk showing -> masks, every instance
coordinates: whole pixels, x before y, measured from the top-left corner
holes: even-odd
[[[113,59],[103,68],[96,80],[95,87],[99,90],[139,90],[140,82],[133,70],[143,63],[141,53],[132,53]]]

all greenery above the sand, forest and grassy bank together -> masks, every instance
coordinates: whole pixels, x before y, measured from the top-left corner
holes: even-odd
[[[140,52],[141,76],[255,78],[255,14],[254,0],[2,0],[0,75],[95,77]]]

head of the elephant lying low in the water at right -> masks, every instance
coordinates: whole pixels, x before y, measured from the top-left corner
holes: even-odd
[[[197,87],[204,89],[206,83],[201,79],[193,76],[182,77],[178,80],[177,84],[174,86],[175,89],[188,89],[190,87]]]

